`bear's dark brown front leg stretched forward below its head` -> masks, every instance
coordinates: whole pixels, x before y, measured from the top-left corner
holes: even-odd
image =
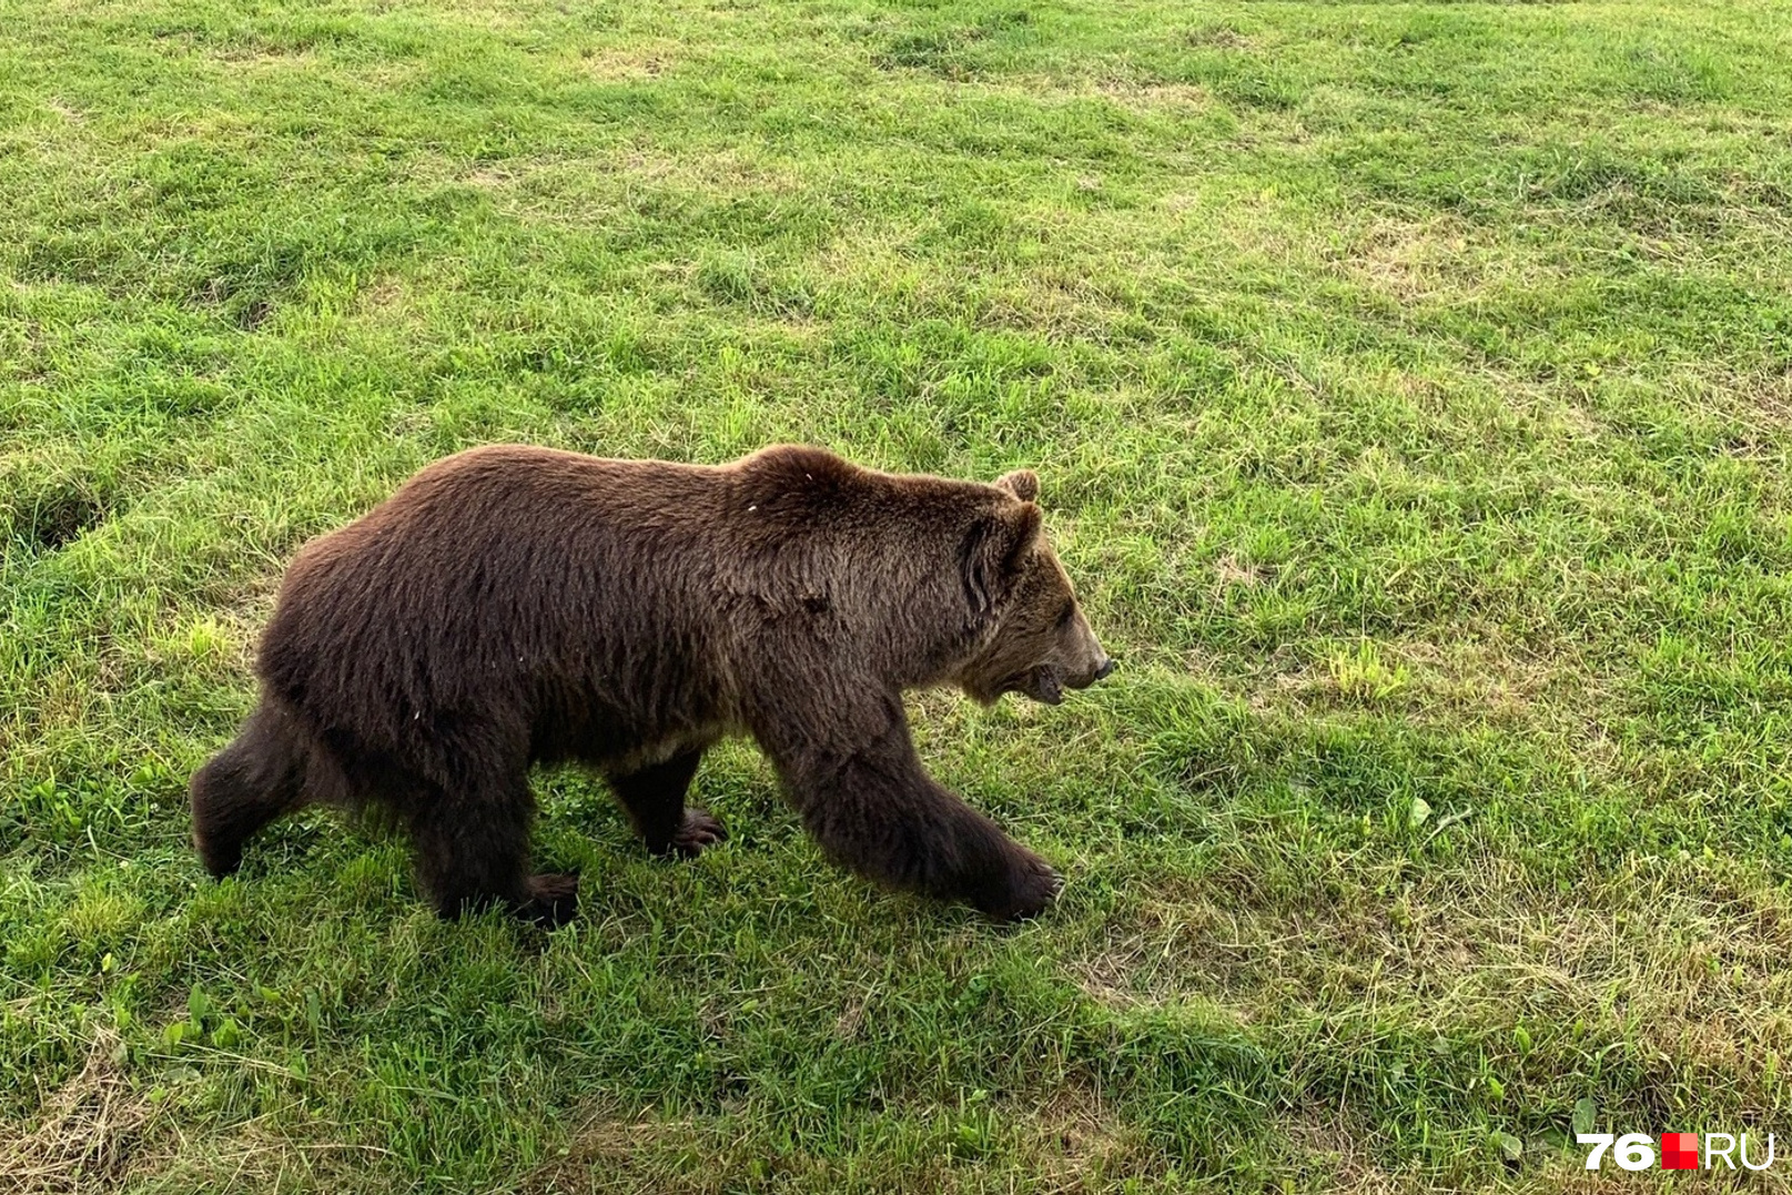
[[[853,713],[857,742],[830,742],[814,724],[806,733],[758,735],[828,858],[889,887],[964,901],[996,921],[1032,917],[1052,903],[1063,880],[1050,864],[921,767],[900,697]]]

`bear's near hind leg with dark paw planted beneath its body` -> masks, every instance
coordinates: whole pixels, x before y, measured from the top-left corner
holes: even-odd
[[[554,930],[579,910],[577,874],[529,874],[534,799],[527,778],[466,794],[441,795],[410,824],[418,880],[437,916],[502,905]]]

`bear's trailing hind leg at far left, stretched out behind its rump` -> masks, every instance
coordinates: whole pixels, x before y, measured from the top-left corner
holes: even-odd
[[[194,772],[194,846],[215,878],[242,865],[242,846],[305,803],[305,745],[278,709],[262,706],[237,738]]]

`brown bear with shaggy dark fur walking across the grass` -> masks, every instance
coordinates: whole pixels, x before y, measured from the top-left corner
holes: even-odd
[[[1038,491],[801,446],[439,460],[292,561],[260,706],[194,774],[194,842],[224,876],[283,813],[373,806],[444,917],[498,903],[554,926],[577,876],[529,874],[532,763],[595,767],[650,851],[697,855],[724,830],[685,790],[711,744],[751,735],[833,862],[1036,914],[1057,873],[923,770],[901,695],[1055,704],[1113,670]]]

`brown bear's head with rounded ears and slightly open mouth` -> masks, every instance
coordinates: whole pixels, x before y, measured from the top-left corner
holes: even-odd
[[[964,591],[993,631],[957,674],[973,699],[993,704],[1025,693],[1055,706],[1066,688],[1088,688],[1115,670],[1090,631],[1064,566],[1039,534],[1039,478],[1018,469],[996,480],[1007,496],[982,512],[964,539]]]

